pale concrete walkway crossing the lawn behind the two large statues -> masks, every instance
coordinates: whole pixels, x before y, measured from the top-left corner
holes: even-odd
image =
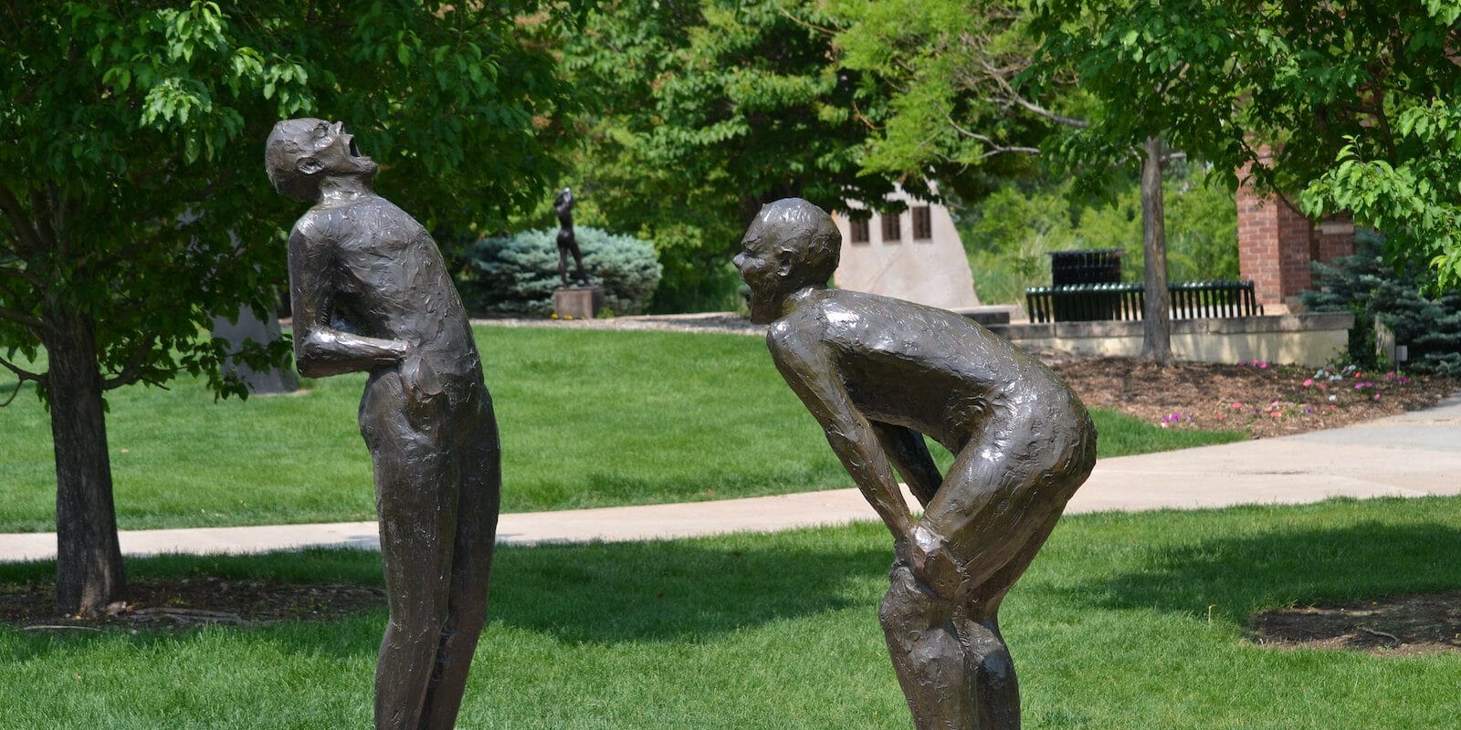
[[[1067,514],[1457,493],[1461,493],[1461,394],[1427,410],[1357,426],[1106,458],[1096,464]],[[836,489],[714,502],[504,514],[498,542],[649,540],[875,518],[856,489]],[[374,521],[121,533],[121,549],[127,555],[304,546],[377,549],[380,543]],[[0,534],[0,561],[54,556],[54,533]]]

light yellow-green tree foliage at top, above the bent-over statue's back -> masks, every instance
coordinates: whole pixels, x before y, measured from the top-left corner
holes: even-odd
[[[863,169],[934,178],[964,197],[996,178],[1034,172],[1036,147],[1053,123],[1014,101],[1011,83],[1036,50],[1026,3],[836,0],[830,7],[842,20],[837,63],[881,91],[858,108],[868,118]]]

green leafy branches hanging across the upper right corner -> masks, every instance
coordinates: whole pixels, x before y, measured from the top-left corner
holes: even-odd
[[[1311,215],[1349,209],[1397,256],[1461,279],[1461,10],[1438,0],[1039,0],[1052,67],[1121,99],[1091,139],[1156,124]]]

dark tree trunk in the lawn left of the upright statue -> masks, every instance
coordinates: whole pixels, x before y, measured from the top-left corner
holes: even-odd
[[[127,591],[111,498],[111,460],[96,323],[48,302],[47,397],[56,441],[56,606],[61,615],[95,615]]]

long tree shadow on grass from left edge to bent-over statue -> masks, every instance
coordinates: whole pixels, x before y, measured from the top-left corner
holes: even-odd
[[[498,549],[492,565],[491,620],[548,634],[564,642],[684,641],[716,637],[779,619],[849,606],[875,619],[877,600],[893,558],[891,548],[869,548],[862,537],[820,534],[730,536],[614,545],[564,545]],[[127,561],[133,581],[219,577],[282,583],[380,584],[380,555],[349,549],[289,553],[137,558]],[[54,562],[0,564],[0,583],[50,583]],[[374,653],[380,628],[339,629],[342,622],[300,622],[248,631],[297,645],[300,651],[352,656]],[[111,641],[124,632],[76,632],[35,637],[25,653],[64,650],[75,642]],[[191,632],[143,632],[123,637],[136,644],[188,641]],[[324,638],[292,641],[289,637]],[[12,656],[12,658],[20,658]]]

